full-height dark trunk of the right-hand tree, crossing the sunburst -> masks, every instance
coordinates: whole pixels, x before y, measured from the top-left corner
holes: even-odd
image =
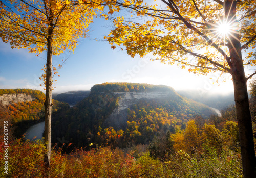
[[[256,177],[256,158],[253,143],[252,122],[249,109],[247,92],[247,78],[245,77],[243,58],[241,53],[241,42],[239,35],[239,22],[236,19],[236,6],[238,1],[225,0],[225,18],[234,27],[232,34],[228,36],[228,48],[230,57],[227,59],[231,69],[234,85],[234,100],[239,128],[240,149],[245,178]]]

